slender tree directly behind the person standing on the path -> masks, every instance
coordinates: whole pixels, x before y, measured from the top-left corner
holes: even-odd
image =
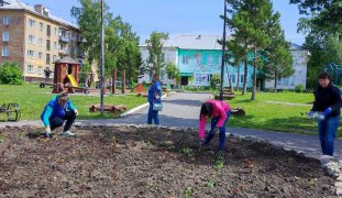
[[[165,67],[163,53],[164,42],[168,40],[167,33],[152,32],[150,38],[145,41],[148,50],[148,58],[142,67],[141,73],[162,74]]]

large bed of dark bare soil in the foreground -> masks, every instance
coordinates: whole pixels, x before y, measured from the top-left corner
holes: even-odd
[[[331,197],[316,160],[228,138],[199,148],[195,131],[84,127],[78,136],[37,138],[0,129],[0,197]],[[59,132],[57,132],[59,133]]]

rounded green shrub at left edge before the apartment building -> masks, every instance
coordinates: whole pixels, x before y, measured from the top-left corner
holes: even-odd
[[[4,62],[0,66],[0,84],[22,85],[22,70],[18,63]]]

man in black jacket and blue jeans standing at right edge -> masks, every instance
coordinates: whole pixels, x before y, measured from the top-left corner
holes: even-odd
[[[332,85],[328,73],[318,77],[315,102],[311,111],[323,112],[324,119],[318,120],[318,133],[323,155],[333,156],[334,139],[340,123],[341,90]]]

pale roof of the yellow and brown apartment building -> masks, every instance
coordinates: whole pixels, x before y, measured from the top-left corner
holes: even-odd
[[[57,23],[62,23],[62,24],[70,26],[70,28],[78,29],[78,26],[76,24],[73,24],[66,20],[63,20],[62,18],[57,18],[57,16],[48,13],[47,8],[45,8],[46,9],[45,11],[48,14],[43,14],[43,13],[37,12],[33,7],[25,4],[25,3],[22,3],[19,0],[0,0],[0,2],[3,2],[3,7],[0,7],[0,11],[1,10],[26,10],[26,11],[29,11],[35,15],[38,15],[41,18],[46,18],[46,19],[49,19],[49,20],[55,21]]]

